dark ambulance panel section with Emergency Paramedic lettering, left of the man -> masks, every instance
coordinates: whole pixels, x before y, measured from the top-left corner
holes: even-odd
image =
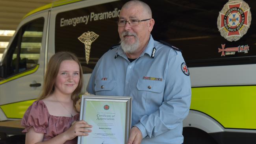
[[[98,59],[118,44],[117,20],[123,1],[65,11],[56,15],[55,52],[76,54],[83,73],[91,73]]]

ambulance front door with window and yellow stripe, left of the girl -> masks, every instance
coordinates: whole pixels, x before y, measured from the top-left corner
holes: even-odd
[[[20,24],[3,55],[0,81],[0,120],[22,118],[42,89],[48,11]],[[3,116],[5,115],[5,117]]]

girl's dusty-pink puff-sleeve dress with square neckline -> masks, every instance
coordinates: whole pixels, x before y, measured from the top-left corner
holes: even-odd
[[[36,133],[44,133],[43,141],[49,140],[64,131],[67,131],[72,122],[79,120],[79,114],[72,117],[50,115],[42,100],[35,101],[27,109],[21,120],[21,126],[25,127],[23,133],[33,127]],[[66,141],[64,144],[76,144],[77,138]]]

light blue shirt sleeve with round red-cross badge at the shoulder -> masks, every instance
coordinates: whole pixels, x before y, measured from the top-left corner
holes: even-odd
[[[142,116],[140,122],[135,124],[140,129],[143,138],[147,135],[150,138],[156,137],[176,128],[189,113],[191,83],[189,74],[182,71],[182,64],[185,64],[182,54],[177,53],[177,55],[170,56],[165,70],[162,105],[154,113]]]

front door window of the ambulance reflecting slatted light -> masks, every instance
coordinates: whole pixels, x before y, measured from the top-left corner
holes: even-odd
[[[22,26],[11,44],[6,60],[6,77],[24,72],[38,63],[43,36],[44,18]]]

